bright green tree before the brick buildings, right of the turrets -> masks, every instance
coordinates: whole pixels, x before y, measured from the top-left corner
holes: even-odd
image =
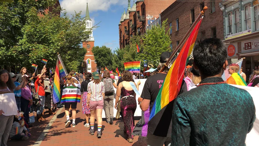
[[[149,64],[157,67],[159,64],[160,56],[162,52],[169,51],[171,44],[170,35],[168,31],[165,31],[167,25],[167,19],[163,21],[162,26],[153,26],[143,37],[143,53],[145,59]]]

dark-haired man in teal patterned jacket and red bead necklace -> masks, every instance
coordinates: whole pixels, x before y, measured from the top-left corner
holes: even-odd
[[[247,91],[221,78],[228,65],[225,44],[205,39],[196,44],[193,56],[202,81],[174,102],[172,145],[245,145],[255,106]]]

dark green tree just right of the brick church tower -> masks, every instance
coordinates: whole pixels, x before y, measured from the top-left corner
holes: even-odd
[[[100,67],[112,67],[112,50],[106,46],[94,46],[92,48],[92,52],[94,54],[94,60],[97,66]]]

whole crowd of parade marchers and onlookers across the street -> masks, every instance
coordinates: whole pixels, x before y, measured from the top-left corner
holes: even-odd
[[[163,52],[157,71],[152,72],[145,81],[141,96],[137,100],[142,111],[152,110],[169,71],[165,63],[171,55],[172,52]],[[186,67],[177,98],[148,122],[147,145],[245,145],[246,134],[252,129],[255,120],[254,102],[247,91],[229,85],[247,85],[243,68],[237,64],[228,65],[227,49],[218,38],[207,38],[198,42],[194,46],[193,56],[193,66]],[[227,66],[231,77],[224,81],[221,76]],[[41,101],[41,106],[37,106],[37,120],[44,120],[42,116],[45,101],[48,113],[55,114],[52,109],[55,109],[56,105],[53,104],[51,109],[51,91],[48,90],[54,76],[49,79],[46,72],[44,66],[41,74],[35,76],[34,73],[30,78],[26,68],[22,68],[17,75],[7,70],[0,71],[1,145],[5,146],[9,138],[9,135],[4,133],[10,133],[10,138],[16,140],[26,140],[30,137],[28,118],[30,107],[34,104],[31,90],[33,83]],[[144,76],[142,73],[139,75],[129,71],[124,71],[122,78],[109,71],[102,74],[69,72],[66,79],[63,78],[60,82],[63,87],[61,104],[65,106],[65,127],[76,126],[77,103],[82,102],[82,113],[86,119],[84,126],[89,127],[90,135],[94,135],[97,117],[96,135],[101,138],[102,110],[105,111],[106,122],[112,125],[115,108],[123,119],[127,141],[132,143],[134,113],[137,108],[136,93],[132,86],[135,85],[139,90],[141,84],[140,81],[137,84],[134,82],[137,78]],[[30,82],[32,79],[35,82]],[[259,87],[257,67],[247,83],[247,86]],[[18,131],[16,127],[20,127]]]

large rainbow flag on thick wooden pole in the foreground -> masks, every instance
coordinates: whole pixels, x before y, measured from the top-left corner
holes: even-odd
[[[200,19],[192,30],[192,33],[168,71],[165,81],[159,90],[153,108],[150,112],[149,120],[152,119],[162,108],[169,104],[169,102],[177,97],[182,85],[186,62],[189,61],[187,58],[190,57],[201,23],[202,19]]]

